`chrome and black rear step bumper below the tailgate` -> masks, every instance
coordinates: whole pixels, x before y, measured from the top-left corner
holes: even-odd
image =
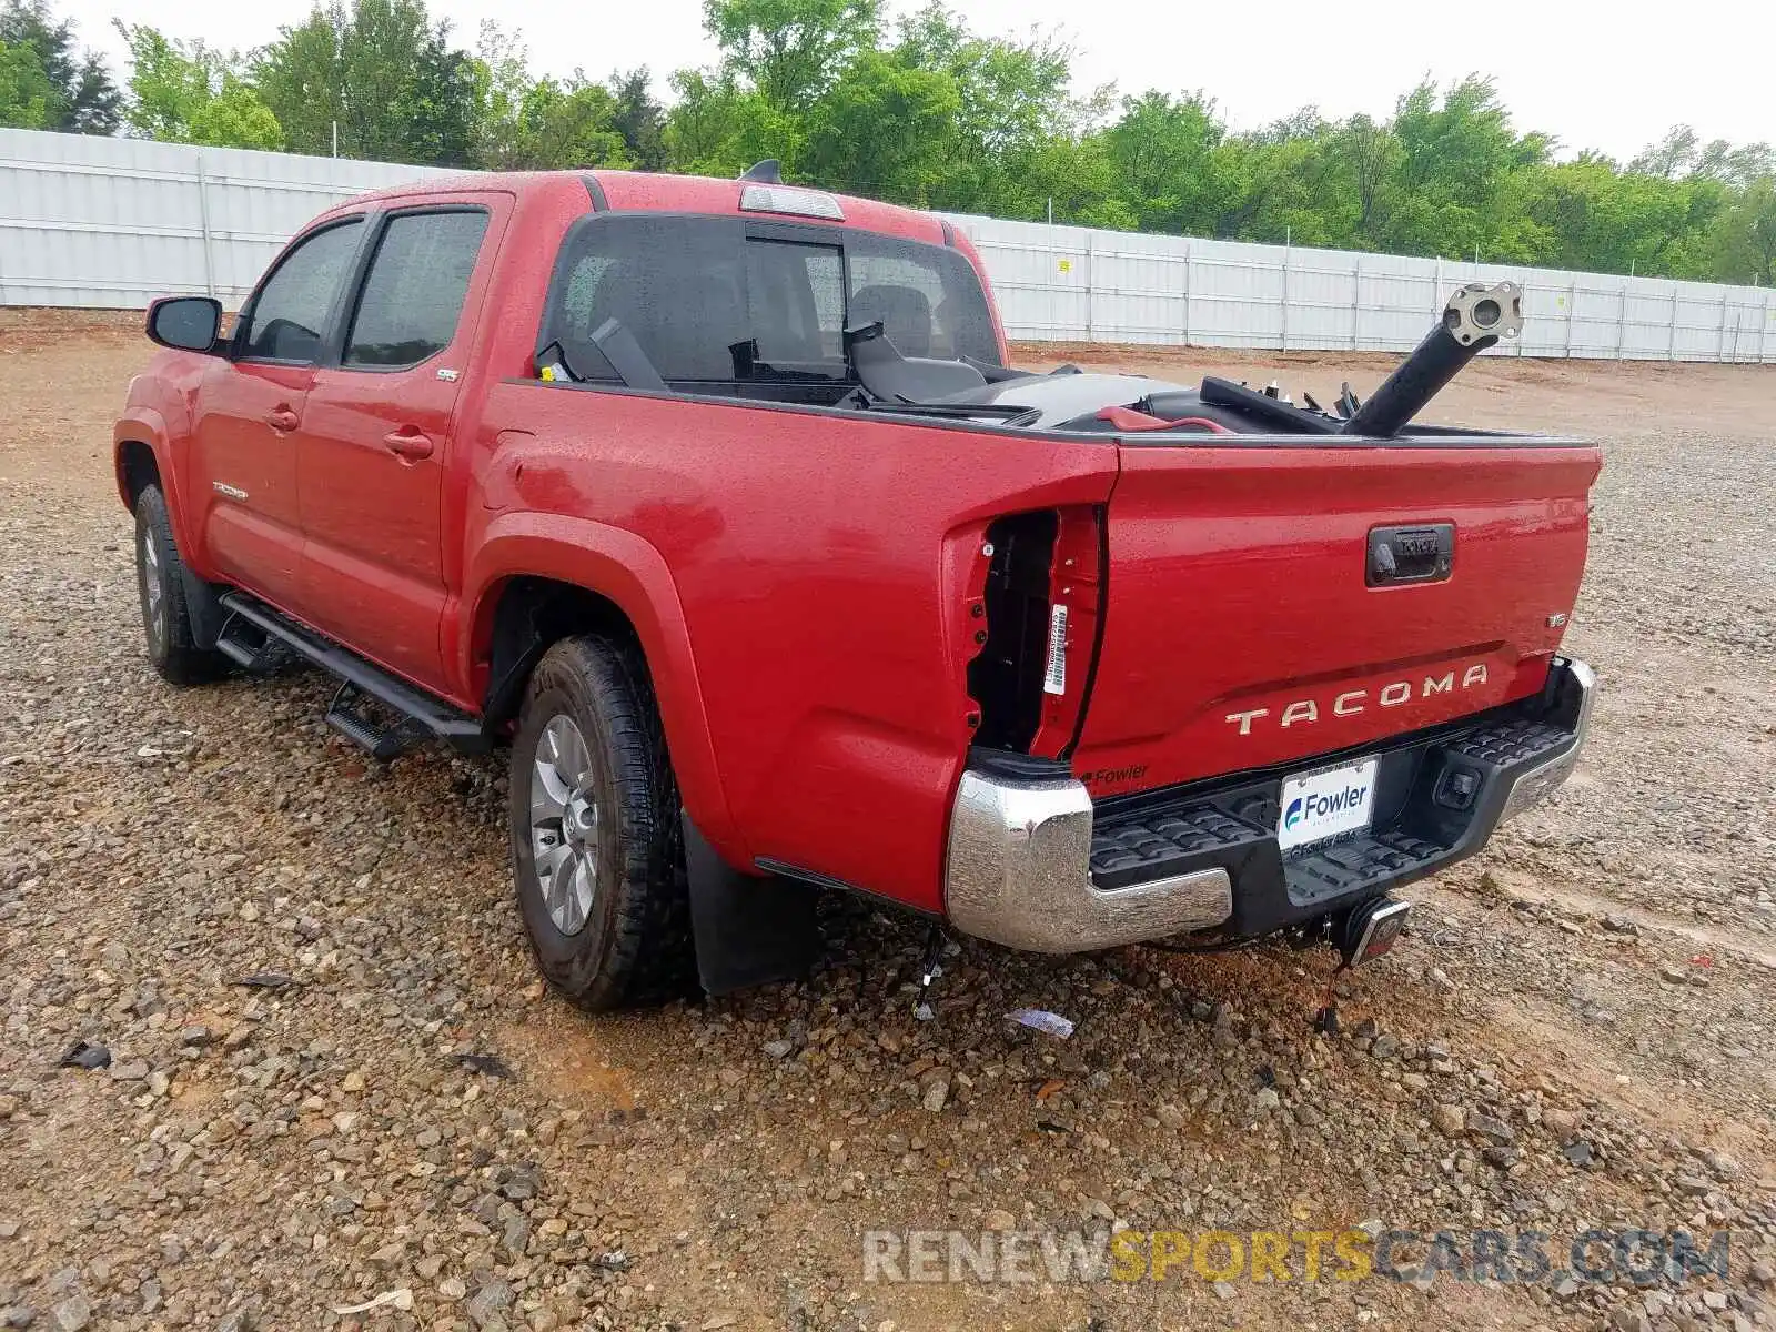
[[[1472,854],[1547,797],[1579,760],[1595,694],[1590,666],[1556,657],[1540,694],[1463,723],[1103,805],[1058,771],[975,765],[950,819],[945,911],[964,934],[1050,954],[1330,920]],[[1371,828],[1284,854],[1284,778],[1364,757],[1380,760]]]

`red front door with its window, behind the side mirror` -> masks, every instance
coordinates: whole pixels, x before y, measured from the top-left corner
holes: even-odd
[[[286,609],[300,599],[304,410],[362,238],[364,218],[348,217],[293,242],[242,307],[233,355],[213,361],[194,403],[190,494],[210,559]]]

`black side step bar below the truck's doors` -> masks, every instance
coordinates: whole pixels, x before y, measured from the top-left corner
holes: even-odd
[[[220,652],[249,670],[263,670],[256,662],[263,662],[268,646],[275,643],[339,677],[339,693],[334,694],[332,707],[327,709],[327,725],[377,758],[394,758],[414,741],[424,739],[444,741],[464,753],[485,753],[492,748],[492,739],[481,730],[476,718],[432,698],[375,662],[364,661],[355,652],[274,611],[265,602],[240,591],[226,591],[222,606],[227,609],[229,620],[217,639]],[[243,641],[234,632],[236,622],[263,634],[265,645],[256,646]],[[373,698],[398,712],[405,721],[394,728],[378,726],[359,712],[359,698]]]

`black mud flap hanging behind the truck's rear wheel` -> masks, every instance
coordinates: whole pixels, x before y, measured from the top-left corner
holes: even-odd
[[[780,876],[741,874],[684,819],[696,973],[710,995],[799,980],[821,955],[815,890]]]

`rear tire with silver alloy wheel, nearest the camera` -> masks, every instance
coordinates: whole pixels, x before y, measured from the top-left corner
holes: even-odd
[[[542,973],[583,1009],[691,989],[678,787],[641,654],[568,638],[529,678],[511,744],[511,865]]]

